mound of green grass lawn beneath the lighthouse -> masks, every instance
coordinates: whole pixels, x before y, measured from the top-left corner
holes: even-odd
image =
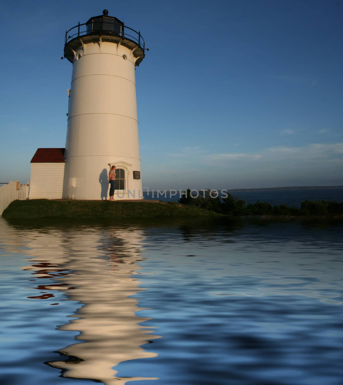
[[[110,202],[32,199],[12,202],[4,218],[151,218],[158,216],[221,216],[221,214],[175,203]]]

